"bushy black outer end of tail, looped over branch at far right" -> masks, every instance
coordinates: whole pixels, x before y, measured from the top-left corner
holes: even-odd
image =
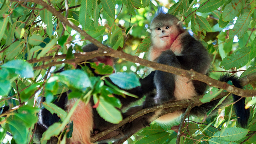
[[[237,88],[243,88],[240,80],[236,76],[229,76],[228,74],[225,74],[223,76],[220,76],[220,81],[222,82],[232,81],[233,86]],[[241,98],[240,96],[237,96],[235,94],[232,94],[232,95],[233,95],[234,102],[238,101]],[[250,110],[244,108],[245,106],[244,102],[245,102],[245,98],[242,98],[241,100],[239,100],[234,104],[236,116],[239,117],[237,119],[237,122],[243,128],[247,126],[247,122],[250,116]]]

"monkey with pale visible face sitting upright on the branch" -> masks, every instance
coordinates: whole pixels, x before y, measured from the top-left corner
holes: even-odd
[[[159,10],[150,24],[151,42],[148,59],[160,64],[166,64],[184,70],[194,70],[201,74],[208,75],[211,64],[211,58],[208,55],[206,48],[193,38],[184,28],[182,22],[175,16],[164,13]],[[190,99],[193,96],[199,96],[206,92],[207,84],[192,80],[186,77],[177,76],[168,72],[160,70],[153,71],[153,82],[156,87],[155,92],[148,94],[143,104],[143,108],[152,107],[163,104],[164,102],[174,100]],[[242,88],[240,81],[235,76],[224,75],[220,77],[220,81],[232,81],[233,85]],[[233,95],[234,102],[241,97]],[[216,106],[219,100],[196,106],[192,108],[190,114],[194,116],[204,116],[211,108]],[[244,108],[245,98],[242,98],[234,104],[238,123],[245,127],[247,125],[250,111]],[[133,108],[136,110],[136,108]],[[162,110],[141,116],[133,122],[127,123],[123,126],[123,133],[125,136],[134,134],[141,128],[147,126],[156,118],[158,123],[170,122],[183,114],[185,109],[178,110],[173,113],[165,114],[159,118]],[[116,137],[118,139],[118,136]]]

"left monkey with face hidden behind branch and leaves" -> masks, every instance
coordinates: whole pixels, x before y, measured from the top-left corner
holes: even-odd
[[[82,48],[82,50],[84,52],[91,52],[94,50],[98,50],[98,47],[95,46],[94,44],[87,44]],[[91,60],[88,60],[88,62],[104,63],[110,66],[114,66],[114,64],[116,63],[116,59],[109,56],[101,56],[101,57],[96,57]],[[90,64],[85,63],[85,65],[88,66],[88,68],[90,68],[94,76],[102,76],[102,75],[96,74],[94,72],[94,69],[90,67]],[[79,65],[76,68],[81,69]],[[64,68],[57,70],[55,73],[62,72],[62,71],[64,71]],[[110,79],[108,79],[108,81],[110,81]],[[127,92],[130,92],[131,94],[136,94],[139,98],[134,98],[130,96],[124,98],[122,96],[115,95],[117,98],[119,98],[120,102],[122,103],[122,108],[142,98],[145,94],[151,92],[154,89],[154,85],[152,85],[153,73],[148,75],[147,78],[141,79],[140,83],[141,83],[141,86],[138,86],[131,90],[127,90]],[[66,110],[67,112],[72,108],[74,102],[76,101],[76,99],[71,99],[71,100],[67,99],[69,92],[70,90],[68,92],[62,93],[60,98],[58,98],[53,102],[63,110]],[[37,101],[40,102],[41,99],[39,98]],[[44,98],[42,99],[42,101],[44,101]],[[92,98],[90,99],[90,102],[88,104],[85,104],[84,102],[79,103],[78,107],[76,108],[72,117],[70,118],[70,121],[73,121],[73,133],[72,133],[72,138],[69,138],[67,140],[68,143],[73,144],[73,143],[80,142],[83,144],[92,144],[90,142],[91,134],[96,134],[113,125],[112,123],[107,122],[103,118],[101,118],[98,112],[96,111],[96,109],[92,108],[93,105],[94,105],[94,102]],[[51,126],[54,122],[58,122],[59,120],[60,118],[56,114],[51,114],[45,108],[41,109],[40,112],[38,113],[38,122],[35,130],[35,134],[34,134],[35,139],[37,141],[40,141],[40,138],[42,137],[43,132],[45,132],[48,129],[48,127]],[[120,132],[116,130],[114,132],[111,132],[111,134],[104,136],[103,139],[108,139],[118,134],[120,134]],[[100,143],[104,143],[108,141],[108,140],[104,141],[103,139]],[[56,138],[52,138],[51,140],[48,141],[48,143],[55,143],[55,142],[57,142]]]

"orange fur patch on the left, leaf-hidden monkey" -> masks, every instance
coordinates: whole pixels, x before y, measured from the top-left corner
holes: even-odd
[[[68,112],[74,106],[76,100],[77,99],[72,99],[68,101],[66,106]],[[70,144],[92,144],[90,142],[90,136],[93,125],[93,115],[90,103],[85,104],[84,102],[79,102],[70,121],[73,121],[74,124]]]

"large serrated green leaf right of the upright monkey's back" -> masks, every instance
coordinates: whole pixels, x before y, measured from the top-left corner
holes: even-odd
[[[250,54],[250,46],[243,47],[239,49],[237,52],[228,56],[228,58],[224,58],[220,63],[220,67],[224,68],[225,70],[229,70],[230,68],[241,68],[242,66],[246,65],[249,60]]]

